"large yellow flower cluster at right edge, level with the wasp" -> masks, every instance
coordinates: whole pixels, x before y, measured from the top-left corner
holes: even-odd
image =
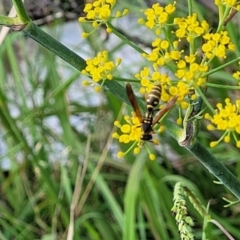
[[[211,142],[210,146],[215,147],[222,140],[228,143],[232,135],[236,146],[240,148],[240,140],[236,135],[236,133],[240,134],[240,100],[233,104],[229,98],[226,98],[225,104],[225,106],[222,103],[217,104],[217,110],[213,117],[208,113],[205,114],[205,118],[212,123],[207,126],[208,130],[224,131],[221,138],[218,141]]]

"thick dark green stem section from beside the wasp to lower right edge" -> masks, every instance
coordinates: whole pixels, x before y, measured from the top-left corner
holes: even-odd
[[[165,119],[164,125],[173,138],[178,140],[182,134],[182,129]],[[226,186],[238,199],[240,199],[240,182],[239,180],[219,162],[205,147],[198,141],[191,146],[186,147],[224,186]]]

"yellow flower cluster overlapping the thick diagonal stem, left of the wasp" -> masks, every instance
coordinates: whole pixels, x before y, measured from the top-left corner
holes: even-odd
[[[82,70],[82,74],[87,75],[92,78],[92,81],[89,82],[87,80],[83,81],[83,85],[87,86],[92,83],[97,83],[102,81],[104,84],[105,80],[112,80],[112,71],[119,66],[121,63],[121,59],[118,58],[116,63],[108,60],[108,51],[103,51],[98,53],[98,55],[94,58],[88,59],[86,61],[86,67]],[[95,91],[99,91],[100,87],[96,86]]]

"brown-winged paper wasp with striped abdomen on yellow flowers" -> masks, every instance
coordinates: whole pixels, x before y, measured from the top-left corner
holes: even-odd
[[[160,88],[158,87],[158,89],[161,89],[161,86],[160,86]],[[156,89],[154,89],[154,91],[155,90]],[[127,96],[128,96],[129,102],[131,103],[131,105],[133,107],[133,110],[134,110],[136,116],[139,119],[139,122],[142,124],[141,127],[142,127],[143,134],[141,136],[141,140],[151,142],[152,134],[154,133],[153,127],[174,106],[175,102],[177,101],[177,96],[172,98],[167,103],[167,105],[163,109],[158,111],[158,113],[153,118],[154,107],[156,107],[158,105],[159,101],[160,101],[161,92],[159,94],[159,100],[158,101],[156,101],[157,95],[154,95],[154,92],[150,92],[148,94],[147,99],[152,98],[154,103],[150,104],[151,101],[150,100],[147,101],[148,111],[147,111],[147,113],[144,116],[142,116],[140,108],[138,106],[136,97],[134,95],[134,92],[132,90],[132,86],[130,85],[130,83],[127,83],[126,91],[127,91]],[[154,95],[154,97],[153,97],[153,95]]]

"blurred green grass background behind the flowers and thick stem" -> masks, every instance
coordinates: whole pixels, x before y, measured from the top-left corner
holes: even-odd
[[[143,1],[121,4],[135,14],[145,7]],[[194,9],[205,14],[201,5]],[[58,26],[57,31],[44,31],[58,38]],[[238,39],[233,23],[229,28]],[[126,34],[133,37],[130,31]],[[239,48],[238,41],[235,44]],[[109,48],[108,40],[101,41],[95,32],[71,49],[86,54],[87,45],[92,55]],[[111,54],[123,45],[119,42]],[[119,146],[111,132],[122,111],[119,99],[108,91],[99,94],[82,87],[78,71],[21,32],[7,36],[0,59],[0,161],[2,166],[8,163],[0,171],[0,239],[180,239],[171,214],[173,186],[179,181],[203,205],[211,200],[211,216],[240,239],[238,205],[223,207],[222,197],[234,200],[232,194],[216,185],[168,134],[156,149],[156,161],[149,161],[144,152],[117,160]],[[133,64],[126,69],[129,75],[138,63]],[[213,82],[228,79],[230,74],[223,71],[211,76]],[[74,91],[81,94],[75,98]],[[211,90],[208,98],[213,102],[218,100],[214,91],[221,91],[223,98],[238,95]],[[100,98],[99,104],[90,104],[93,95]],[[214,137],[203,124],[199,141],[208,147]],[[222,144],[211,152],[239,176],[238,149]],[[196,239],[204,239],[203,218],[190,203],[188,208]],[[205,239],[227,239],[210,224],[204,234]]]

